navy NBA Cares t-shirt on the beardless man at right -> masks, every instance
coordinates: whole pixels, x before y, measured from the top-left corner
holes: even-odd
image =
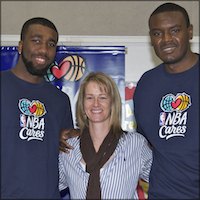
[[[178,74],[163,64],[144,73],[133,101],[153,150],[149,198],[199,198],[199,61]]]

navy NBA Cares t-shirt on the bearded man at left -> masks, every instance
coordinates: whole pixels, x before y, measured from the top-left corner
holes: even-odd
[[[72,127],[64,92],[1,72],[1,198],[59,199],[59,134]]]

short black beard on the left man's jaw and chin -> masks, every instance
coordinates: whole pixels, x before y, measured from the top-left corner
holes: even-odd
[[[22,56],[22,60],[23,60],[23,62],[24,62],[24,65],[25,65],[27,71],[28,71],[30,74],[32,74],[32,75],[34,75],[34,76],[40,76],[40,77],[43,77],[44,75],[47,74],[47,70],[48,70],[48,68],[49,68],[49,65],[47,65],[44,69],[36,69],[36,68],[33,66],[33,63],[32,63],[31,61],[28,61],[28,60],[25,58],[23,51],[22,51],[21,56]]]

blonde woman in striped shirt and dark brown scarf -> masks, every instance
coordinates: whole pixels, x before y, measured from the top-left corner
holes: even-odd
[[[121,97],[115,82],[91,72],[80,86],[76,104],[80,137],[68,139],[60,153],[60,190],[72,199],[138,199],[139,178],[148,181],[152,162],[146,139],[121,128]]]

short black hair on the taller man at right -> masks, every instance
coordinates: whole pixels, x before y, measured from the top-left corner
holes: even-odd
[[[189,27],[190,26],[190,19],[189,19],[189,15],[187,13],[187,11],[185,10],[185,8],[181,7],[180,5],[177,5],[175,3],[164,3],[160,6],[158,6],[150,15],[149,17],[149,25],[150,25],[150,19],[153,15],[162,13],[162,12],[168,12],[168,11],[179,11],[183,14],[184,18],[185,18],[185,22],[186,22],[186,26]]]

